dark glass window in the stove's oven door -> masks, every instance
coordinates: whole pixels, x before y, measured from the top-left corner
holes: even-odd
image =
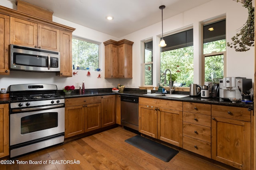
[[[42,131],[58,126],[58,112],[46,112],[21,118],[21,134]]]

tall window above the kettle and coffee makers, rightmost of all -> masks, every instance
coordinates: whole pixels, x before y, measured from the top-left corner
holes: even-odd
[[[224,77],[226,58],[226,20],[203,25],[204,81]]]

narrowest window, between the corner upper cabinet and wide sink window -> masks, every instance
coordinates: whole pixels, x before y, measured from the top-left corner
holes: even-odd
[[[153,85],[153,41],[144,43],[144,85]]]

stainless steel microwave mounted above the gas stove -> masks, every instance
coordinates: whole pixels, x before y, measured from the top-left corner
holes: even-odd
[[[10,45],[10,70],[60,71],[60,52]]]

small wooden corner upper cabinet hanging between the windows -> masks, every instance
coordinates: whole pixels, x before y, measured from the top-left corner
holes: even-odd
[[[105,78],[132,78],[132,41],[105,41]]]

